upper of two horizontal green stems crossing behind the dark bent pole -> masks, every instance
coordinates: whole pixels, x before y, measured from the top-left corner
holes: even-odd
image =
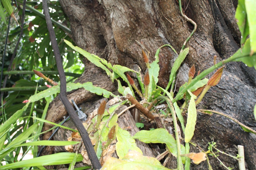
[[[59,72],[58,71],[40,71],[43,74],[46,75],[58,75]],[[35,74],[34,71],[4,71],[3,75],[12,75],[12,74]],[[69,72],[65,72],[66,76],[71,76],[71,77],[80,77],[82,74],[76,74],[76,73],[69,73]]]

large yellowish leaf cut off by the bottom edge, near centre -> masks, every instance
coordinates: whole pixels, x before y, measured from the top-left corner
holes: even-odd
[[[154,130],[153,130],[154,131]],[[111,157],[107,159],[101,169],[111,170],[169,170],[164,167],[156,158],[143,156],[140,152],[130,151],[123,159]]]

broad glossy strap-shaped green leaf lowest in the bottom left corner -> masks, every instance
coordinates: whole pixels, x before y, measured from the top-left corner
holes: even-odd
[[[0,166],[0,170],[5,169],[15,169],[15,168],[22,168],[22,167],[29,167],[29,166],[48,166],[48,165],[62,165],[62,164],[69,164],[73,161],[75,153],[69,152],[62,152],[62,153],[55,153],[52,155],[44,155],[33,159],[22,160],[19,162],[14,162],[11,164],[7,164],[4,166]],[[83,157],[81,154],[78,154],[78,158],[76,162],[82,161]]]

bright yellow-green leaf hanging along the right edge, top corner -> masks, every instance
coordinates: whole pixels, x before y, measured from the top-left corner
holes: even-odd
[[[244,3],[249,25],[251,51],[256,52],[256,2],[255,0],[245,0]]]

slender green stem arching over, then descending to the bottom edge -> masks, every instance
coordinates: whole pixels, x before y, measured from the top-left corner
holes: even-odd
[[[159,96],[156,98],[156,100],[165,100],[166,103],[168,104],[169,108],[171,109],[176,144],[177,144],[177,169],[183,170],[182,160],[181,160],[181,156],[180,156],[181,151],[180,151],[180,137],[179,137],[179,132],[178,132],[178,124],[177,124],[177,119],[176,119],[176,112],[174,110],[172,101],[166,96]]]

